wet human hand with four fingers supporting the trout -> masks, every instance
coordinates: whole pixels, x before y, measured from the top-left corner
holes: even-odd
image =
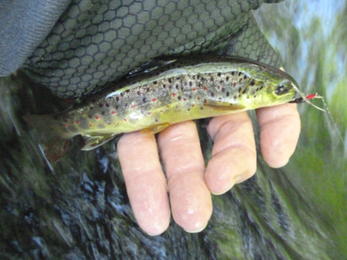
[[[256,114],[264,160],[273,168],[284,166],[300,133],[296,105],[264,107]],[[207,130],[214,146],[206,168],[193,121],[170,125],[160,132],[158,146],[154,135],[139,132],[119,139],[119,161],[130,205],[137,223],[148,234],[158,235],[167,229],[170,205],[178,225],[187,232],[201,231],[212,214],[210,193],[225,193],[255,173],[255,140],[246,112],[216,116]]]

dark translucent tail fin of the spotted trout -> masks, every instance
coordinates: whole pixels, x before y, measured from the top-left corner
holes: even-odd
[[[48,114],[28,114],[24,116],[24,119],[39,132],[44,155],[49,159],[49,162],[57,162],[65,153],[69,139],[63,137],[56,119]]]

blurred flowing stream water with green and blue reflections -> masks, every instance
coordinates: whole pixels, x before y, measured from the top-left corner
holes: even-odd
[[[22,116],[63,105],[22,73],[1,78],[1,259],[346,259],[346,2],[287,0],[255,17],[301,89],[325,96],[337,128],[298,105],[301,139],[287,166],[269,168],[259,156],[255,177],[213,197],[203,232],[171,221],[151,237],[133,218],[115,146],[85,153],[75,139],[70,156],[49,164]]]

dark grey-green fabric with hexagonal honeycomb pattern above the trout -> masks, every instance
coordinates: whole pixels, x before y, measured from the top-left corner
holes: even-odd
[[[215,52],[278,65],[250,13],[263,2],[76,0],[34,51],[12,55],[27,56],[22,69],[62,97],[89,94],[160,55]]]

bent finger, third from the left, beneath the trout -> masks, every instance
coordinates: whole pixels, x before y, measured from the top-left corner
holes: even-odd
[[[246,112],[216,116],[208,124],[214,141],[205,182],[214,194],[251,177],[257,167],[253,126]]]

